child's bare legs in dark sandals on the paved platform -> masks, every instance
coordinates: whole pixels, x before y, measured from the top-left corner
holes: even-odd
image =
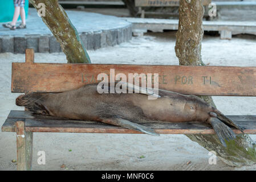
[[[25,14],[25,0],[14,0],[14,15],[13,15],[13,21],[11,23],[3,24],[3,27],[10,28],[11,30],[15,30],[16,28],[26,28],[26,14]],[[19,18],[19,15],[21,15],[22,23],[19,24],[18,27],[16,27],[16,22]]]

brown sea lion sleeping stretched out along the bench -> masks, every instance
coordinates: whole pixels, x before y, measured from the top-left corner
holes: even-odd
[[[162,89],[158,92],[160,98],[148,100],[147,94],[152,95],[151,91],[145,94],[99,94],[97,84],[88,84],[62,93],[26,93],[16,99],[16,105],[25,106],[36,114],[100,121],[151,135],[159,134],[139,123],[209,123],[224,146],[225,140],[235,138],[235,134],[227,125],[240,131],[243,129],[197,96]]]

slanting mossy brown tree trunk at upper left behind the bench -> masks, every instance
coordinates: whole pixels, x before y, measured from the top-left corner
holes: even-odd
[[[60,43],[68,63],[91,63],[78,31],[62,6],[59,5],[58,0],[29,0],[29,2],[38,11],[44,11],[42,5],[45,5],[45,14],[41,18]]]

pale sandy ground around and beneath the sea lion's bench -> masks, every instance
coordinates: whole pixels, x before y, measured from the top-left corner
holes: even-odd
[[[174,31],[133,37],[128,43],[88,51],[92,63],[178,64],[174,52]],[[220,40],[205,36],[202,59],[209,65],[256,66],[255,36]],[[15,106],[19,95],[11,93],[11,63],[24,62],[25,55],[0,54],[0,125]],[[36,62],[66,63],[63,53],[36,53]],[[224,114],[255,114],[254,97],[214,97]],[[251,135],[256,140],[256,136]],[[0,170],[15,169],[15,133],[0,133]],[[208,163],[208,151],[185,135],[34,133],[34,170],[255,170],[255,166],[234,168],[221,160]],[[72,151],[70,151],[72,150]],[[46,152],[46,164],[37,163],[38,151]],[[144,155],[145,158],[140,159]],[[190,164],[187,162],[191,161]],[[60,168],[66,164],[66,168]]]

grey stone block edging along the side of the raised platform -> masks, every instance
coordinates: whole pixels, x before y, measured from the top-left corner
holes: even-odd
[[[80,32],[79,36],[87,50],[115,46],[132,39],[132,24],[112,30]],[[0,36],[0,53],[25,53],[26,48],[35,52],[62,52],[52,35]]]

